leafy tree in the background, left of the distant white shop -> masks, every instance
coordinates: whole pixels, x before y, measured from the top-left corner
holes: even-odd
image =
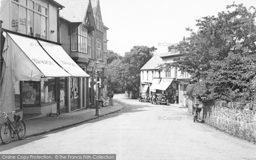
[[[134,46],[125,56],[108,65],[108,81],[115,86],[125,86],[126,90],[137,91],[140,86],[140,68],[153,57],[154,47]]]

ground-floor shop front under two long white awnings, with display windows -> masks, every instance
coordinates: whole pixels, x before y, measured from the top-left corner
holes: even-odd
[[[55,42],[11,31],[4,35],[0,111],[17,111],[24,118],[70,111],[69,79],[76,86],[77,77],[89,75]]]

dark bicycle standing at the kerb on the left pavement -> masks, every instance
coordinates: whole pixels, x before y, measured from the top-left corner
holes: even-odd
[[[17,134],[19,140],[23,140],[26,135],[26,125],[25,122],[20,119],[20,115],[15,111],[7,114],[3,112],[2,114],[5,115],[4,117],[6,118],[6,122],[3,122],[0,127],[0,139],[3,144],[9,143],[11,138],[15,137],[15,134]],[[10,114],[14,114],[15,125],[13,125],[8,117]]]

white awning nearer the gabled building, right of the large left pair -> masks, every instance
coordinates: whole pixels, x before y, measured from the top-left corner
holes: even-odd
[[[64,70],[73,77],[90,77],[72,58],[64,51],[61,45],[52,44],[45,41],[38,41],[45,51],[54,59]]]

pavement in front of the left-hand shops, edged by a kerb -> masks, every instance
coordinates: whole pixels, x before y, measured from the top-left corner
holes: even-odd
[[[71,113],[61,113],[59,116],[34,116],[29,119],[25,119],[26,124],[26,137],[34,137],[41,134],[46,134],[52,131],[56,131],[62,128],[67,128],[73,125],[87,122],[92,119],[106,116],[110,113],[114,113],[123,108],[123,105],[113,101],[113,108],[102,107],[99,108],[99,116],[95,116],[95,108],[84,109]],[[11,139],[11,142],[17,140],[17,135]],[[0,142],[2,145],[2,142]]]

